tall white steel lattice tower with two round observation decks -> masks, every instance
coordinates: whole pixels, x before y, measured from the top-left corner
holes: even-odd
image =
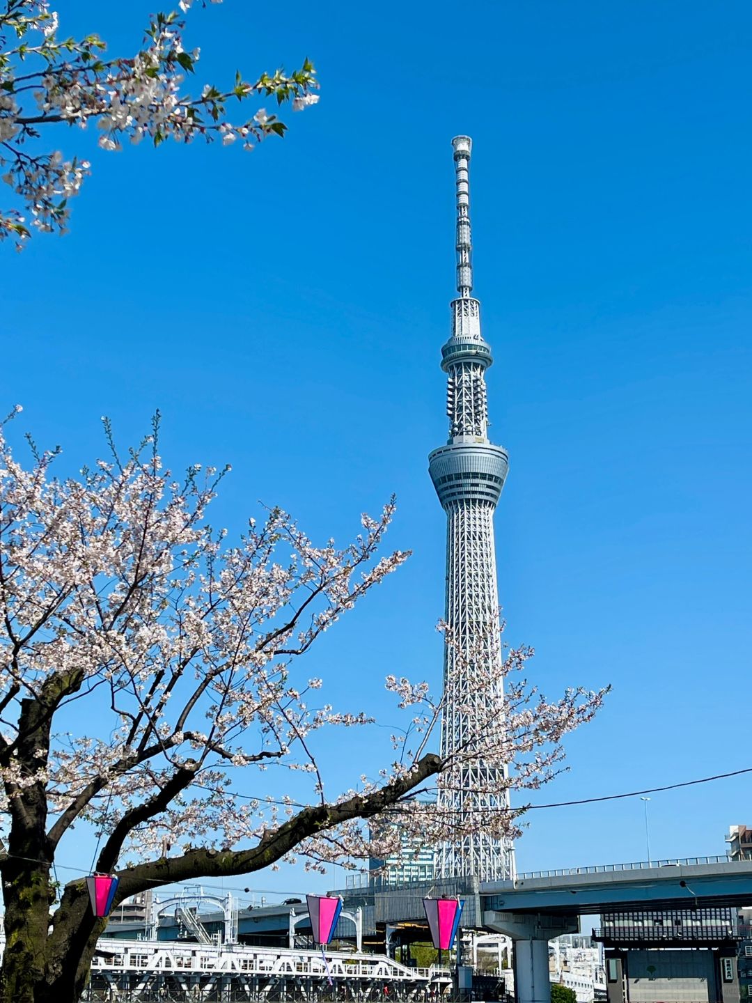
[[[457,185],[457,292],[451,304],[452,333],[441,349],[441,368],[447,375],[449,439],[430,453],[429,473],[446,512],[445,621],[452,637],[444,655],[444,697],[441,719],[441,755],[456,753],[467,742],[468,702],[497,703],[499,726],[502,690],[483,688],[485,677],[498,678],[501,649],[498,640],[498,592],[493,543],[493,513],[506,476],[506,451],[488,441],[485,370],[492,362],[488,343],[480,333],[480,304],[472,297],[468,165],[472,140],[452,139]],[[480,714],[479,716],[483,716]],[[474,875],[481,881],[513,877],[511,843],[493,839],[478,824],[483,815],[508,805],[505,772],[497,765],[462,762],[439,784],[438,806],[463,829],[456,845],[438,848],[438,877]],[[495,809],[495,811],[494,811]]]

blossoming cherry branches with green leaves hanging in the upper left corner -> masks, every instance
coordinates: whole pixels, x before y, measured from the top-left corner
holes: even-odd
[[[143,48],[122,58],[108,56],[98,35],[61,37],[47,0],[0,0],[0,174],[20,204],[0,211],[0,240],[11,238],[20,250],[35,229],[65,232],[69,200],[90,163],[43,148],[51,125],[86,128],[93,121],[106,150],[118,149],[123,138],[144,137],[155,146],[200,137],[252,149],[269,135],[284,135],[287,126],[263,107],[231,121],[230,101],[266,98],[296,111],[318,101],[308,59],[292,73],[278,69],[247,80],[238,72],[232,84],[183,92],[200,56],[182,42],[192,3],[180,0],[179,12],[151,16]]]

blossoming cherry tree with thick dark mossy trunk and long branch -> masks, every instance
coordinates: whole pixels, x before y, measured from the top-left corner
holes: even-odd
[[[229,467],[172,476],[157,431],[155,419],[121,455],[105,422],[107,459],[64,477],[59,450],[29,439],[21,462],[0,425],[2,1003],[80,995],[106,920],[93,917],[83,877],[56,885],[54,864],[82,824],[99,839],[93,870],[119,878],[115,905],[281,861],[353,867],[390,849],[395,821],[424,842],[478,825],[513,834],[523,809],[447,818],[414,795],[451,782],[458,758],[511,767],[509,789],[538,786],[558,768],[561,736],[603,699],[571,690],[548,703],[515,677],[499,703],[500,676],[480,671],[468,740],[442,761],[432,750],[440,696],[390,675],[402,719],[384,768],[357,791],[331,791],[320,733],[371,718],[326,702],[322,680],[299,666],[406,560],[379,555],[394,501],[363,516],[345,546],[316,545],[279,509],[232,541],[207,522]],[[501,674],[530,654],[509,651]]]

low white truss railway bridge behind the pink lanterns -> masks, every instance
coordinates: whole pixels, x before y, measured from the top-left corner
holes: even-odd
[[[325,960],[326,958],[326,960]],[[330,980],[332,985],[330,985]],[[423,1000],[448,969],[408,968],[384,955],[100,939],[87,1000]],[[386,988],[386,992],[385,992]]]

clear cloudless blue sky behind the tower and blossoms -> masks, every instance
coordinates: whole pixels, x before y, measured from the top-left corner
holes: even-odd
[[[57,6],[63,32],[120,54],[148,10]],[[741,2],[198,8],[199,84],[308,55],[320,104],[253,153],[106,153],[63,128],[93,176],[68,236],[3,252],[5,406],[72,468],[101,449],[100,414],[127,442],[158,406],[171,465],[233,463],[214,521],[238,532],[262,499],[344,540],[396,491],[391,543],[414,556],[310,671],[382,713],[387,672],[437,682],[426,456],[446,436],[449,140],[466,132],[491,434],[510,454],[508,636],[535,647],[549,695],[614,687],[536,799],[752,766],[751,40]],[[378,738],[353,737],[357,772]],[[338,751],[333,787],[352,778]],[[646,856],[637,798],[529,819],[522,870]],[[656,794],[650,820],[654,857],[723,853],[752,820],[750,780]]]

